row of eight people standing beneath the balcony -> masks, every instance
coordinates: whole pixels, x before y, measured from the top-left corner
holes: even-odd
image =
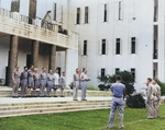
[[[58,70],[55,70],[53,73],[50,70],[50,73],[45,73],[45,68],[42,68],[42,72],[37,73],[37,69],[34,66],[28,70],[28,67],[24,67],[22,73],[19,72],[19,66],[15,66],[15,69],[12,72],[13,81],[13,91],[12,97],[18,97],[19,86],[21,86],[21,97],[35,97],[36,88],[40,88],[40,96],[44,97],[44,92],[46,87],[46,96],[51,97],[52,88],[54,90],[54,97],[57,97],[56,90],[61,87],[61,97],[64,97],[63,91],[65,87],[65,72],[62,73],[59,78]],[[33,88],[33,95],[31,95],[31,88]]]

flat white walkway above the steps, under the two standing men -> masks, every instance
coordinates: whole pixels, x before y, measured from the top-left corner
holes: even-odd
[[[111,101],[112,97],[87,97],[87,101]],[[80,97],[78,97],[80,101]],[[0,104],[16,104],[16,103],[48,103],[48,102],[73,102],[73,97],[29,97],[29,98],[12,98],[1,97]]]

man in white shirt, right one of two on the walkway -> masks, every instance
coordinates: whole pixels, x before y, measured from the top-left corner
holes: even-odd
[[[80,74],[80,81],[81,81],[81,101],[87,101],[86,99],[87,82],[90,81],[90,79],[87,76],[87,69],[84,69],[84,72]]]

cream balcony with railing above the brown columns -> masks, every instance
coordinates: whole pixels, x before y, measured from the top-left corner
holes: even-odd
[[[78,50],[79,35],[77,33],[68,31],[67,35],[62,34],[61,32],[58,33],[57,24],[43,23],[43,21],[32,20],[18,12],[10,12],[1,8],[0,33]]]

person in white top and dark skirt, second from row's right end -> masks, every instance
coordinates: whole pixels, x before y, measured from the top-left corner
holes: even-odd
[[[54,88],[54,97],[57,97],[56,95],[56,90],[59,87],[59,74],[58,74],[58,69],[55,70],[55,73],[54,73],[54,85],[53,85],[53,88]]]

